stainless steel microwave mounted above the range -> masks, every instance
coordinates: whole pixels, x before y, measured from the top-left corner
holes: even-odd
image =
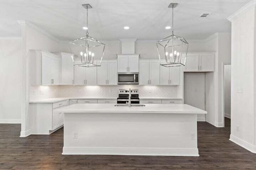
[[[118,84],[139,84],[139,73],[118,72]]]

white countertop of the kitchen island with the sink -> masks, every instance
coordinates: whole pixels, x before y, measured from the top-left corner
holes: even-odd
[[[184,113],[206,114],[207,111],[187,104],[145,104],[143,107],[116,107],[116,104],[73,104],[56,109],[62,113]]]

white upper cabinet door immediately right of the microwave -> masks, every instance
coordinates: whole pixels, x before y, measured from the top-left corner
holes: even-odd
[[[139,84],[149,84],[149,60],[140,60]]]

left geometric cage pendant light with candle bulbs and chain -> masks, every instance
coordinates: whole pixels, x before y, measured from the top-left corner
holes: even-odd
[[[90,4],[83,4],[82,6],[86,9],[86,27],[83,27],[86,29],[86,35],[69,43],[71,53],[76,55],[76,57],[72,56],[72,60],[74,66],[101,66],[105,44],[89,35],[88,9],[91,9],[92,6]],[[100,62],[95,62],[96,57],[100,58]]]

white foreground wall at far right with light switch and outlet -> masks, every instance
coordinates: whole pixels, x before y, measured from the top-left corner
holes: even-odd
[[[230,140],[256,153],[256,1],[233,14]],[[239,92],[240,89],[242,92]]]

